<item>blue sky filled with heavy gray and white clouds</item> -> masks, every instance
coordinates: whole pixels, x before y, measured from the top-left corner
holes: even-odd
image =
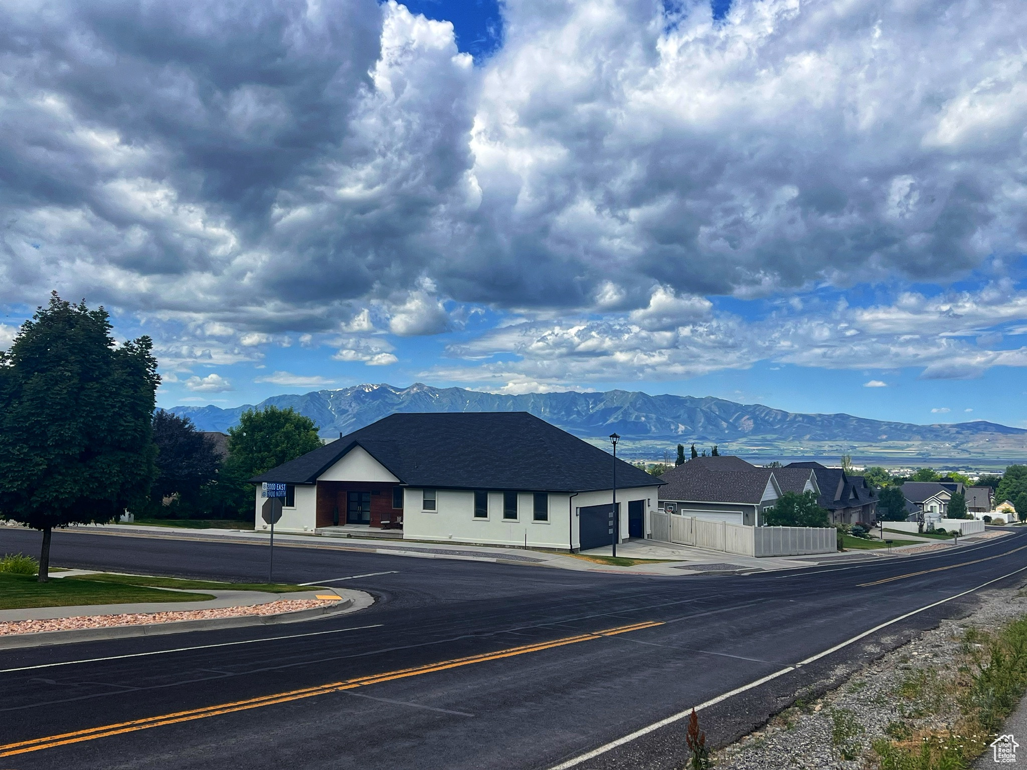
[[[103,304],[162,406],[1027,424],[1019,3],[26,0],[0,56],[0,343]]]

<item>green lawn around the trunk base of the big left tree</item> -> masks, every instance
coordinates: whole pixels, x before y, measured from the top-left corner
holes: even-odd
[[[35,575],[0,573],[0,610],[27,607],[73,607],[76,605],[121,605],[134,602],[202,602],[210,593],[180,593],[141,585],[98,582],[82,578],[51,578],[36,581]]]

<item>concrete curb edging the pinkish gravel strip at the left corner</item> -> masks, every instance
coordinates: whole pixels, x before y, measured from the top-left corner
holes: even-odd
[[[363,591],[362,591],[363,593]],[[370,598],[370,594],[369,594]],[[67,645],[76,642],[101,642],[111,639],[131,639],[134,637],[157,637],[165,633],[186,633],[189,631],[212,631],[222,628],[241,628],[250,625],[277,625],[298,623],[314,618],[345,615],[363,610],[365,605],[354,607],[352,598],[345,598],[330,607],[314,607],[310,610],[282,612],[277,615],[239,615],[234,618],[211,618],[210,620],[173,620],[167,623],[142,623],[139,625],[115,625],[104,628],[76,628],[67,631],[38,631],[0,637],[0,650],[16,650],[25,647],[46,647]]]

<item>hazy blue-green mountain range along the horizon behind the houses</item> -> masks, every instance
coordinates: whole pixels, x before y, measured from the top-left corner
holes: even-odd
[[[529,412],[596,442],[619,433],[625,456],[657,458],[678,442],[721,445],[734,454],[837,455],[842,452],[902,460],[923,457],[1017,457],[1027,454],[1027,430],[975,421],[914,425],[853,417],[785,412],[724,398],[649,395],[638,391],[503,395],[415,383],[356,385],[266,398],[258,409],[292,407],[312,419],[322,437],[335,437],[393,412]],[[251,405],[174,407],[200,430],[226,431]],[[724,445],[727,445],[725,447]]]

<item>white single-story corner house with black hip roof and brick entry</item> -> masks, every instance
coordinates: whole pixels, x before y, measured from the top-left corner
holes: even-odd
[[[662,484],[616,461],[620,539],[645,537]],[[395,414],[250,479],[287,485],[288,531],[403,529],[404,538],[607,545],[614,461],[526,412]]]

